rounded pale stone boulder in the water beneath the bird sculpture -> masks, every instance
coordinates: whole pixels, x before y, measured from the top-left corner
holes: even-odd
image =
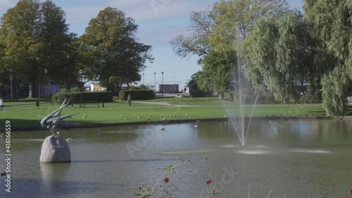
[[[68,143],[59,135],[46,137],[42,144],[40,161],[47,163],[71,162]]]

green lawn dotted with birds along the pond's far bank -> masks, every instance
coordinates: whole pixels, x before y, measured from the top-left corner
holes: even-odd
[[[60,104],[46,104],[40,99],[39,107],[35,106],[37,100],[4,101],[4,111],[0,111],[0,123],[11,120],[13,128],[39,128],[40,120],[60,106]],[[141,102],[149,102],[144,104]],[[167,102],[165,106],[156,104]],[[150,104],[154,103],[154,104]],[[221,102],[217,97],[209,98],[157,98],[146,101],[108,102],[105,108],[97,108],[96,104],[87,104],[86,108],[63,109],[62,114],[78,113],[66,120],[83,124],[108,123],[138,123],[148,121],[169,120],[201,120],[207,118],[225,118],[227,112],[235,116],[239,106],[232,102]],[[293,104],[293,105],[261,105],[257,104],[252,113],[253,105],[246,105],[245,116],[325,116],[321,104]],[[352,112],[352,109],[349,109]],[[83,116],[86,115],[85,118]],[[238,115],[238,114],[236,114]],[[0,125],[0,128],[4,128]]]

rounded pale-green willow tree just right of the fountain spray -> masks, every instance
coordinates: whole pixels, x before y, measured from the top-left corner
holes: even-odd
[[[313,39],[298,11],[266,17],[253,26],[247,46],[247,68],[253,82],[265,83],[277,101],[298,99],[298,87],[317,85]],[[319,75],[318,75],[319,76]],[[256,85],[259,86],[259,85]]]

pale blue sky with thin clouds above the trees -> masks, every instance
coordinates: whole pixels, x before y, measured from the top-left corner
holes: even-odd
[[[89,20],[95,18],[99,11],[111,6],[125,12],[127,17],[139,25],[137,38],[139,42],[151,45],[153,63],[146,63],[141,73],[139,84],[159,87],[164,84],[179,84],[184,88],[191,75],[201,70],[196,64],[197,56],[180,58],[170,47],[170,40],[177,35],[188,35],[189,16],[191,11],[205,11],[215,0],[52,0],[66,13],[66,23],[70,32],[84,34]],[[291,8],[302,9],[302,0],[287,0]],[[0,16],[12,8],[17,0],[0,0]],[[162,72],[163,75],[161,74]],[[144,73],[144,75],[143,75]],[[155,80],[154,80],[154,73]],[[158,88],[157,88],[158,90]]]

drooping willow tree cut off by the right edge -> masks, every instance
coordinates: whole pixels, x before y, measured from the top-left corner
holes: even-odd
[[[351,94],[352,79],[352,1],[304,0],[306,20],[313,26],[320,56],[329,58],[322,78],[323,106],[328,115],[346,113],[346,97]],[[325,56],[324,56],[325,55]],[[326,60],[326,58],[325,58]],[[320,63],[323,61],[320,60]]]

